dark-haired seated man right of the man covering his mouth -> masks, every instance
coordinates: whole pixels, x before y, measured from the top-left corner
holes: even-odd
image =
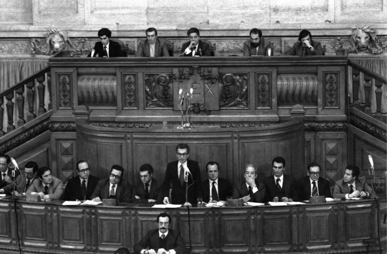
[[[285,159],[275,157],[272,162],[273,174],[264,179],[265,202],[292,202],[299,200],[297,182],[293,176],[284,174]]]

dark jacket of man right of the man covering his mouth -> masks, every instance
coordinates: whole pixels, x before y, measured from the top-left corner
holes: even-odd
[[[265,191],[265,202],[272,202],[273,198],[277,196],[277,186],[274,181],[274,176],[268,176],[264,179],[264,185],[266,187]],[[298,201],[299,199],[299,191],[297,187],[297,182],[293,178],[293,176],[289,176],[284,174],[284,182],[282,184],[282,195],[287,198],[291,198],[293,201]]]

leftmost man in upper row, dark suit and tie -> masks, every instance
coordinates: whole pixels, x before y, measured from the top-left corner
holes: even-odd
[[[110,41],[111,31],[107,28],[103,28],[98,31],[98,38],[101,41],[96,42],[94,49],[87,57],[122,57],[121,46],[116,41]]]

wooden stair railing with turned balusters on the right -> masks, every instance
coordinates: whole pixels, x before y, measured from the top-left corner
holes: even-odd
[[[382,107],[382,86],[383,84],[387,83],[387,80],[385,77],[379,75],[378,73],[375,73],[363,66],[361,66],[358,63],[355,63],[353,60],[348,59],[348,66],[352,67],[352,89],[353,89],[353,107],[359,107],[360,108],[360,102],[359,102],[359,88],[360,88],[360,72],[364,74],[364,98],[365,98],[365,105],[364,108],[362,108],[363,112],[372,115],[375,117],[375,119],[382,121],[383,115],[381,112]],[[372,79],[375,80],[375,98],[376,98],[376,113],[371,112],[371,81]]]

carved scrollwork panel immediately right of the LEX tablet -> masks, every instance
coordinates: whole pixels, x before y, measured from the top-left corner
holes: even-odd
[[[222,75],[221,75],[222,76]],[[219,82],[219,107],[248,108],[248,74],[226,73]]]

